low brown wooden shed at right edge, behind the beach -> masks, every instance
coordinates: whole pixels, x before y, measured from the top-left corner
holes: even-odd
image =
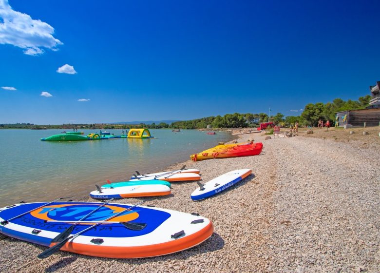
[[[339,126],[350,124],[352,126],[379,126],[380,108],[369,108],[360,110],[347,110],[336,113]]]

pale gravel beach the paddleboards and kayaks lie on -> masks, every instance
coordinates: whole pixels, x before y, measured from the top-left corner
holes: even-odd
[[[380,272],[379,146],[358,149],[358,143],[308,137],[263,140],[258,134],[240,141],[252,138],[264,143],[260,156],[186,162],[201,170],[205,182],[252,169],[228,191],[193,202],[196,183],[176,182],[172,195],[144,198],[144,205],[208,217],[215,232],[201,245],[143,259],[59,252],[39,260],[45,247],[0,235],[0,271]]]

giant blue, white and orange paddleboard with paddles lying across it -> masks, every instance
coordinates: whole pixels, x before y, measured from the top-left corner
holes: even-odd
[[[102,204],[103,207],[77,224],[71,235],[88,230],[69,239],[61,250],[109,258],[152,257],[196,246],[207,240],[214,229],[205,217],[172,210],[144,206],[128,210],[131,205],[115,203],[53,202],[1,208],[0,232],[39,245],[53,246],[53,238]],[[25,212],[29,213],[22,215]],[[102,223],[110,215],[117,216],[109,220],[112,223]],[[95,226],[94,223],[99,222],[101,224]],[[134,229],[133,225],[142,228]]]

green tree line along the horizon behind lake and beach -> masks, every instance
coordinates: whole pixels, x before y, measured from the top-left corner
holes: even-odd
[[[346,110],[364,109],[368,106],[370,95],[360,97],[358,100],[348,99],[344,101],[336,98],[332,102],[309,103],[304,107],[304,111],[300,116],[287,116],[284,118],[282,113],[270,116],[270,121],[276,125],[289,127],[298,122],[303,126],[317,126],[318,120],[335,121],[335,113]],[[0,129],[18,128],[18,129],[131,129],[131,128],[148,128],[148,129],[203,129],[210,125],[212,128],[247,128],[258,127],[260,123],[267,122],[268,115],[259,114],[226,114],[216,117],[202,117],[192,120],[176,121],[171,124],[161,122],[159,124],[63,124],[63,125],[35,125],[33,123],[16,123],[16,124],[0,124]],[[41,128],[43,126],[43,128]]]

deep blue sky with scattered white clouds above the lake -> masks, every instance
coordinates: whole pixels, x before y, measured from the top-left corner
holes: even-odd
[[[377,0],[0,0],[0,123],[289,116],[358,99],[380,80],[379,10]]]

